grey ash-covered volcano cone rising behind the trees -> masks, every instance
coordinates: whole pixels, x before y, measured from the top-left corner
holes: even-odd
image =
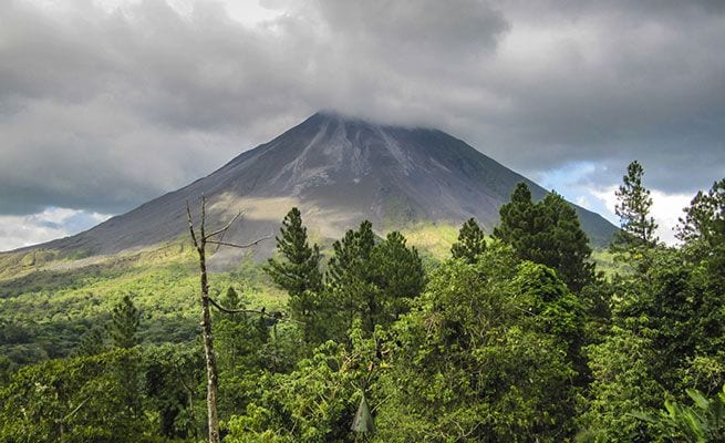
[[[318,113],[193,184],[73,237],[42,247],[94,254],[156,244],[185,235],[185,205],[208,200],[209,228],[237,212],[226,239],[245,243],[273,234],[292,206],[319,237],[336,238],[370,219],[379,229],[418,220],[460,223],[476,217],[490,233],[500,205],[519,182],[535,198],[546,190],[460,140],[435,130],[381,126]],[[577,207],[593,243],[615,228]],[[273,247],[268,241],[267,250]]]

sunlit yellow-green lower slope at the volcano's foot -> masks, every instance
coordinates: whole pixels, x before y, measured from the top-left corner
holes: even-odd
[[[403,235],[434,266],[448,256],[458,226],[418,224]],[[194,340],[198,324],[195,254],[177,241],[110,257],[60,257],[53,251],[0,256],[0,354],[18,363],[64,356],[92,324],[105,323],[126,293],[133,295],[143,313],[144,340]],[[613,271],[609,253],[597,251],[594,259],[600,269]],[[211,274],[209,282],[213,293],[234,287],[250,307],[277,309],[286,301],[286,295],[252,261]]]

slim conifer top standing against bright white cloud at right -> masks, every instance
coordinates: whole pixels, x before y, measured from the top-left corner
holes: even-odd
[[[614,213],[620,217],[621,230],[614,238],[615,250],[643,253],[655,247],[659,238],[655,234],[657,224],[650,215],[652,197],[650,189],[642,185],[644,169],[634,161],[626,167],[624,182],[615,192],[618,204]]]

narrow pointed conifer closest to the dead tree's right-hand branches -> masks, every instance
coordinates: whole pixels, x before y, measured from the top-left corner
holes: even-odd
[[[265,270],[277,286],[289,293],[291,315],[304,323],[304,337],[310,342],[319,309],[317,298],[322,289],[320,248],[308,244],[307,227],[302,225],[300,210],[296,207],[284,217],[280,236],[276,239],[281,259],[270,258]]]

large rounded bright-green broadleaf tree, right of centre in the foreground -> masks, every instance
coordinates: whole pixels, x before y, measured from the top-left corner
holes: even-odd
[[[476,266],[435,270],[418,308],[394,327],[380,441],[561,441],[573,432],[576,373],[566,343],[547,331],[565,315],[548,305],[568,291],[550,270],[545,287],[516,282],[536,266],[517,267],[495,244]]]

